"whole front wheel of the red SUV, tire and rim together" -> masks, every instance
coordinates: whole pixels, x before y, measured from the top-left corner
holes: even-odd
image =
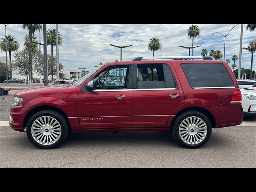
[[[68,122],[54,110],[42,110],[30,118],[27,125],[30,142],[41,149],[58,147],[68,136]]]

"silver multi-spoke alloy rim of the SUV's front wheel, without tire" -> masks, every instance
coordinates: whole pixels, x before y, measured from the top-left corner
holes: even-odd
[[[61,126],[55,118],[42,116],[33,122],[31,134],[39,144],[51,145],[60,138]]]

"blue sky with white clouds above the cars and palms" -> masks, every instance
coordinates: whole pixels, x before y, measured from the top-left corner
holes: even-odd
[[[187,29],[192,24],[58,24],[58,30],[62,35],[62,45],[59,47],[59,60],[69,68],[86,68],[89,71],[100,62],[120,61],[120,48],[110,46],[131,47],[122,49],[122,61],[130,61],[140,56],[153,56],[148,50],[148,42],[152,37],[157,37],[162,44],[162,49],[155,52],[155,56],[188,56],[188,49],[181,46],[192,46],[192,38],[187,35]],[[208,51],[219,49],[224,53],[224,37],[236,24],[197,24],[201,29],[200,36],[194,39],[194,56],[200,56],[202,48]],[[246,25],[244,25],[245,27]],[[55,24],[47,24],[47,28],[55,28]],[[7,34],[14,36],[20,42],[23,49],[24,36],[28,30],[22,29],[22,24],[9,24]],[[236,26],[226,37],[225,60],[232,56],[239,56],[241,26]],[[4,38],[5,27],[0,24],[0,38]],[[38,32],[35,32],[38,39]],[[43,43],[42,32],[40,34]],[[243,47],[248,46],[250,41],[256,39],[256,32],[243,31]],[[41,46],[43,50],[43,46]],[[51,46],[48,46],[48,53]],[[56,56],[56,47],[53,50]],[[0,52],[5,56],[5,52]],[[191,50],[192,56],[192,50]],[[222,57],[223,59],[223,57]],[[242,68],[250,69],[251,53],[242,49]],[[238,67],[238,60],[236,61]],[[256,70],[256,58],[254,56],[253,70]]]

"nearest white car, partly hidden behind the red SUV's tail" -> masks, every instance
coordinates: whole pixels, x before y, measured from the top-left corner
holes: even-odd
[[[256,115],[256,92],[240,89],[244,116]]]

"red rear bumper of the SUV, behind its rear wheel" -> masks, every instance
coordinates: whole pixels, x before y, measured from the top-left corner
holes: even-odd
[[[216,126],[214,128],[229,127],[242,124],[244,115],[241,104],[228,106],[214,106],[210,112],[214,115]]]

